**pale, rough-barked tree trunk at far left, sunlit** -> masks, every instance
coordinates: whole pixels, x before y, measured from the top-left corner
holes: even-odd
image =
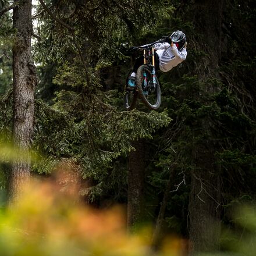
[[[34,88],[37,84],[31,55],[31,0],[23,0],[13,9],[13,144],[17,158],[10,173],[10,199],[19,193],[19,187],[30,176],[30,143],[33,136]]]

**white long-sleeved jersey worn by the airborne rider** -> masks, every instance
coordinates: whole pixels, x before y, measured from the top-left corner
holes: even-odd
[[[168,42],[158,42],[154,48],[159,56],[159,68],[163,72],[168,72],[173,67],[182,63],[187,57],[186,48],[179,51],[175,44],[170,46]]]

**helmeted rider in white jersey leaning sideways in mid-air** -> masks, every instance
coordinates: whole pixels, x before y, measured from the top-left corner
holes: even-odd
[[[162,72],[168,72],[173,67],[182,63],[187,57],[186,51],[186,35],[180,31],[174,31],[168,37],[162,37],[163,42],[158,42],[154,45],[155,54],[155,69]],[[143,45],[145,47],[147,45]],[[131,51],[137,47],[131,47]],[[139,66],[143,65],[143,56],[136,59],[132,73],[128,80],[128,86],[134,87],[136,83],[136,72]]]

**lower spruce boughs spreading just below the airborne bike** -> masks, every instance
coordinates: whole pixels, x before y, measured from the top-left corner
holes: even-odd
[[[58,99],[56,108],[62,107],[63,111],[37,101],[34,148],[46,159],[37,163],[34,169],[48,173],[57,159],[74,159],[84,178],[97,180],[98,190],[94,192],[101,191],[99,187],[109,176],[108,169],[113,168],[113,161],[133,150],[130,141],[152,138],[154,131],[170,122],[166,112],[119,112],[97,97],[87,106],[81,102],[81,95],[71,92],[58,95]]]

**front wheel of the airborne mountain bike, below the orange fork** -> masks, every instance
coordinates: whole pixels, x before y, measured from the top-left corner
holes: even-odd
[[[158,109],[161,105],[161,88],[157,77],[156,83],[153,83],[153,76],[148,65],[138,67],[136,74],[136,83],[138,94],[144,104],[150,109]]]

